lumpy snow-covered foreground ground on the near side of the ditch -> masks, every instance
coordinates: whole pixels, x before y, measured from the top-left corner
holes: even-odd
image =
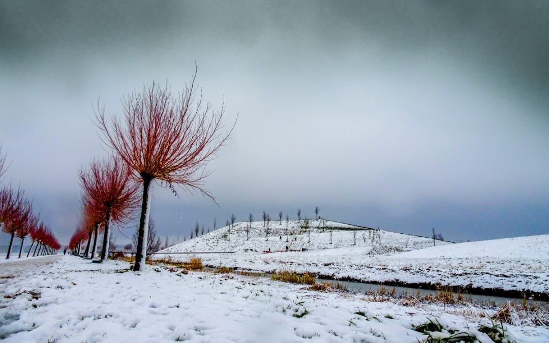
[[[89,263],[74,256],[0,262],[0,340],[5,342],[423,342],[413,328],[437,320],[474,335],[484,318],[451,306],[403,306],[360,295],[234,274],[127,262]],[[9,269],[7,269],[9,268]],[[487,313],[490,314],[490,313]],[[547,342],[546,327],[505,325],[507,341]]]

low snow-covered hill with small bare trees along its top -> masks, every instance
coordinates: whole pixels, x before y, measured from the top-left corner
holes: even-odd
[[[331,248],[367,248],[370,254],[410,251],[433,246],[433,239],[360,227],[329,220],[239,222],[223,227],[163,252],[262,252],[265,250],[316,250]],[[288,237],[286,227],[288,225]],[[268,231],[268,240],[267,240]],[[287,239],[288,238],[288,239]],[[437,245],[449,242],[436,240]]]

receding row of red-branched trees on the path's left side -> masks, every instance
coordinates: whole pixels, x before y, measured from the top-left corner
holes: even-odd
[[[2,153],[0,147],[0,182],[3,181],[4,173],[7,171],[6,158],[7,155]],[[15,238],[21,240],[19,258],[23,255],[23,246],[27,237],[32,241],[27,257],[30,256],[35,243],[32,256],[54,254],[61,248],[51,230],[33,211],[32,201],[26,198],[24,190],[20,187],[15,189],[12,185],[3,185],[0,188],[0,226],[10,235],[6,258],[12,255]]]

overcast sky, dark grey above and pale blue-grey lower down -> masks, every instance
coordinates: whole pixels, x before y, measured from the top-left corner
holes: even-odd
[[[547,18],[545,1],[3,1],[6,181],[66,243],[77,171],[106,154],[93,103],[119,115],[196,61],[205,98],[239,118],[206,181],[219,207],[155,186],[162,235],[315,205],[455,241],[549,233]]]

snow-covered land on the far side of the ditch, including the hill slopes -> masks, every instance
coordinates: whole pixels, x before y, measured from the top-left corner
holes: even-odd
[[[262,224],[257,222],[256,234],[260,233]],[[242,251],[268,250],[267,246],[272,247],[271,251],[285,250],[285,235],[281,240],[277,234],[267,242],[265,235],[261,239],[253,239],[250,234],[247,241],[242,225],[235,224],[231,241],[225,237],[227,228],[223,228],[164,251],[238,251],[234,254],[198,256],[211,266],[222,263],[229,267],[264,272],[289,269],[364,282],[440,284],[549,293],[549,235],[458,244],[436,241],[437,245],[432,246],[432,239],[383,230],[379,232],[379,244],[377,230],[356,230],[356,245],[353,245],[354,230],[346,229],[334,230],[333,244],[330,245],[329,230],[315,229],[311,232],[311,243],[307,245],[307,248],[315,250],[257,254]],[[294,227],[293,233],[295,235],[289,235],[289,241],[297,243],[298,248],[307,244],[308,235],[300,233],[299,227]],[[256,245],[259,248],[254,248]],[[336,249],[329,249],[332,246]],[[170,256],[174,259],[187,258],[186,255]]]

